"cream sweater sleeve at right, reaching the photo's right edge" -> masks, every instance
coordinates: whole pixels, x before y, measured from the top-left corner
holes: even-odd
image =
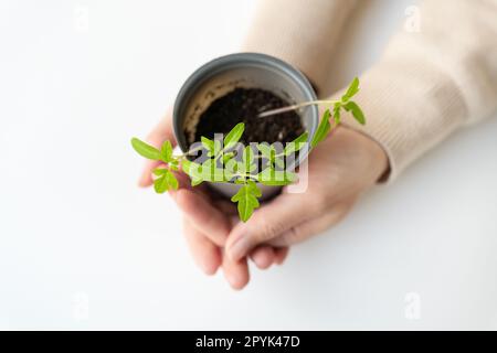
[[[497,1],[425,0],[420,31],[400,31],[361,78],[357,101],[390,179],[454,130],[497,109]]]

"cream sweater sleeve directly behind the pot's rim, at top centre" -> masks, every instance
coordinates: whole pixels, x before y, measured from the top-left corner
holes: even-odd
[[[322,89],[340,30],[356,0],[263,0],[242,50],[279,57]]]

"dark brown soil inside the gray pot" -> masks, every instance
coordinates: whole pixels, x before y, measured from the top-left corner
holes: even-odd
[[[214,138],[228,133],[236,124],[245,122],[241,142],[290,142],[304,132],[296,111],[258,118],[261,111],[288,106],[289,103],[273,93],[258,88],[235,88],[215,99],[200,116],[195,141],[200,137]]]

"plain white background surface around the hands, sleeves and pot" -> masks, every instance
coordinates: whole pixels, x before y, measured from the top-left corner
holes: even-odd
[[[378,58],[412,2],[362,2],[336,87]],[[237,50],[253,10],[0,1],[1,329],[497,329],[497,119],[241,292],[193,265],[172,202],[136,186],[129,139],[194,68]]]

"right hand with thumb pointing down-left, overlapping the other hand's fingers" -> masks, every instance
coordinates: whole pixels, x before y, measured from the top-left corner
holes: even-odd
[[[361,193],[387,171],[382,148],[367,136],[338,127],[308,161],[308,188],[281,195],[255,210],[230,232],[226,252],[237,261],[263,244],[289,246],[324,232],[350,211]]]

